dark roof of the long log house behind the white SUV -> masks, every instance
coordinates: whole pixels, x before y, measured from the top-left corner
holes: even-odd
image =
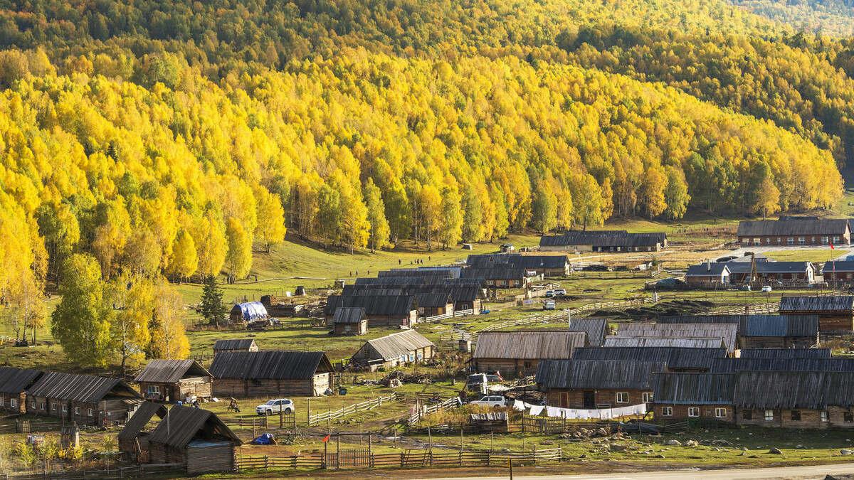
[[[213,378],[300,380],[331,372],[324,352],[222,352],[208,369]]]

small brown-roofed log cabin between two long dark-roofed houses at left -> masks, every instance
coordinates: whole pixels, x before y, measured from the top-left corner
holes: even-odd
[[[210,397],[213,376],[196,360],[150,360],[134,382],[146,400],[187,401]]]

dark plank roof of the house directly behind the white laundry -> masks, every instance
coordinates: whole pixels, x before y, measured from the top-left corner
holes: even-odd
[[[535,381],[547,389],[650,389],[652,373],[664,362],[623,360],[542,360]]]

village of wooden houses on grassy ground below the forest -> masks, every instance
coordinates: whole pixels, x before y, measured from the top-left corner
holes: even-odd
[[[127,378],[23,349],[0,366],[0,462],[64,480],[851,459],[849,221],[697,236],[570,231],[260,284],[188,332],[189,359]]]

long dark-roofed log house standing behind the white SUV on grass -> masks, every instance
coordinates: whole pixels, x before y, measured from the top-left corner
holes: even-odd
[[[320,396],[332,388],[323,352],[223,352],[208,370],[214,396]]]

